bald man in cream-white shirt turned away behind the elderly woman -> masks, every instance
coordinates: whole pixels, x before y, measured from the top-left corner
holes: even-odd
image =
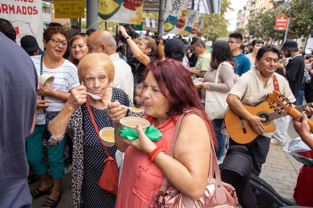
[[[116,53],[116,42],[106,30],[93,32],[87,40],[88,53],[105,53],[115,68],[114,80],[110,87],[122,89],[131,99],[134,96],[134,78],[131,67]]]

